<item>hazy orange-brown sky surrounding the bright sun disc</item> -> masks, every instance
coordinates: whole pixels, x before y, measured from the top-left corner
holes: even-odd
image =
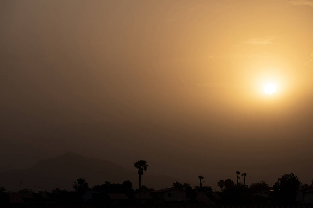
[[[308,183],[312,25],[309,0],[2,0],[0,170],[70,150],[192,186]]]

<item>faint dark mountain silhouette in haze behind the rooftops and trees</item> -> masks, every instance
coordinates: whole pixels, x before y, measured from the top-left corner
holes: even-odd
[[[155,189],[171,186],[173,181],[177,181],[174,177],[150,174],[143,176],[142,184]],[[57,187],[71,191],[77,178],[85,178],[90,187],[105,181],[122,183],[126,180],[133,183],[134,189],[138,186],[138,173],[135,168],[129,170],[110,161],[85,157],[75,152],[39,160],[28,169],[0,172],[0,185],[8,191],[14,191],[13,189],[19,189],[19,183],[23,181],[22,189],[27,187],[37,191],[33,186],[38,186],[47,191]]]

